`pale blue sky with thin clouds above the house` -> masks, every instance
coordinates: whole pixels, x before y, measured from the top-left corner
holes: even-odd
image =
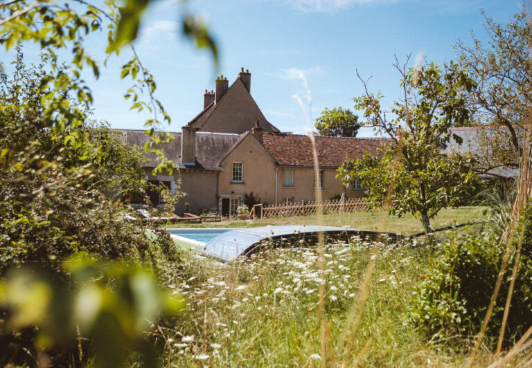
[[[240,68],[251,73],[251,95],[265,117],[281,131],[306,134],[325,107],[353,108],[364,93],[384,95],[384,108],[400,98],[400,75],[394,57],[410,66],[417,55],[428,62],[456,59],[452,48],[461,39],[471,44],[470,30],[484,43],[484,18],[511,21],[522,4],[514,0],[180,0],[152,1],[134,42],[143,64],[154,75],[156,97],[171,124],[180,131],[203,109],[206,89],[217,75],[231,85]],[[209,52],[197,49],[181,33],[183,12],[209,26],[220,50],[220,66]],[[105,32],[92,37],[91,52],[103,57]],[[120,80],[125,49],[111,57],[100,78],[89,77],[94,118],[112,127],[142,129],[147,113],[130,111],[123,95],[130,81]],[[357,112],[362,115],[362,112]],[[373,136],[369,128],[359,136]]]

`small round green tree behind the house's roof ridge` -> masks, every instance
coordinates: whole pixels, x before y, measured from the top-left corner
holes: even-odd
[[[329,110],[327,107],[316,119],[314,127],[318,129],[320,136],[328,137],[356,137],[360,123],[358,116],[349,109],[335,107]]]

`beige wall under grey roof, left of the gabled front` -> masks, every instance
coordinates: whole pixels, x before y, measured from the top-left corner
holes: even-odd
[[[153,176],[148,170],[149,180],[168,181],[168,174]],[[185,210],[185,203],[188,203],[188,212],[201,213],[203,210],[216,210],[216,174],[217,172],[177,170],[172,173],[173,181],[177,189],[185,193],[179,200],[175,212],[181,215]],[[179,187],[179,181],[181,185]]]

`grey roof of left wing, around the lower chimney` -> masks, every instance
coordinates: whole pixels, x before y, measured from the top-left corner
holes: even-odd
[[[144,152],[144,144],[150,140],[150,137],[144,134],[143,130],[121,129],[125,139],[131,145],[141,147]],[[219,171],[218,163],[231,147],[240,138],[238,134],[223,134],[223,133],[196,133],[196,166],[185,167],[181,161],[181,133],[170,132],[174,139],[169,144],[161,143],[160,147],[163,150],[166,158],[172,160],[174,167],[179,169],[203,169]],[[149,163],[144,164],[144,167],[154,167],[156,156],[154,154],[146,154],[150,159]]]

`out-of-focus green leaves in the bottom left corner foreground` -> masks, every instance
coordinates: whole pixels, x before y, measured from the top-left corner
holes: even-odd
[[[7,316],[0,323],[0,364],[22,365],[33,356],[49,365],[91,360],[96,367],[123,367],[134,351],[137,362],[157,365],[146,333],[159,313],[179,311],[183,300],[163,292],[138,266],[80,258],[62,266],[68,279],[25,267],[12,270],[0,285]]]

